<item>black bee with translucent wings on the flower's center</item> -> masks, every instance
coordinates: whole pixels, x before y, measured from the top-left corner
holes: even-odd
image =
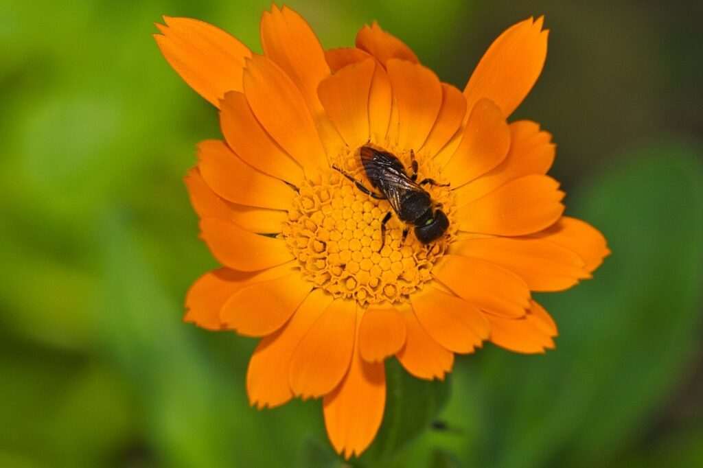
[[[446,187],[449,184],[441,184],[432,178],[425,178],[420,183],[418,179],[418,162],[415,160],[415,152],[411,150],[411,167],[413,174],[408,176],[405,167],[400,160],[390,152],[380,148],[373,148],[366,144],[359,148],[361,164],[366,171],[366,177],[371,186],[380,193],[375,193],[357,180],[351,174],[333,165],[333,169],[340,171],[342,175],[376,200],[388,200],[392,211],[387,212],[381,221],[381,249],[385,245],[386,223],[392,218],[393,212],[406,224],[415,226],[415,237],[423,244],[429,244],[441,238],[449,228],[449,219],[441,211],[441,204],[434,204],[430,193],[423,188],[424,185]],[[437,208],[437,209],[434,209]],[[408,235],[409,228],[403,230],[403,242]],[[380,249],[379,249],[380,251]]]

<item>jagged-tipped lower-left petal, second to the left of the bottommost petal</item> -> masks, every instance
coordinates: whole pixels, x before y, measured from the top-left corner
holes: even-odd
[[[285,327],[262,338],[254,349],[247,369],[247,394],[250,403],[259,410],[265,406],[275,408],[292,398],[288,384],[290,356],[330,302],[330,294],[321,289],[313,290]]]

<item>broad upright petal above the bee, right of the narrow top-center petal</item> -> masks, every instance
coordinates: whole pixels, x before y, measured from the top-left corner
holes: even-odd
[[[439,78],[423,65],[397,58],[388,60],[386,68],[398,105],[398,143],[404,148],[419,149],[441,107]]]

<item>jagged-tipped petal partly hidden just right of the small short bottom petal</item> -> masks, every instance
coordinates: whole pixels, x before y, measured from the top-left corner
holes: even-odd
[[[401,306],[398,311],[407,330],[405,346],[396,354],[399,362],[419,379],[444,380],[444,375],[451,371],[454,363],[453,353],[427,334],[409,306]]]

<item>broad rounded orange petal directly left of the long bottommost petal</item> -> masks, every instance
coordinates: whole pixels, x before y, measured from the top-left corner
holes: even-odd
[[[356,302],[335,299],[300,340],[290,361],[290,388],[303,399],[328,394],[349,369]]]

